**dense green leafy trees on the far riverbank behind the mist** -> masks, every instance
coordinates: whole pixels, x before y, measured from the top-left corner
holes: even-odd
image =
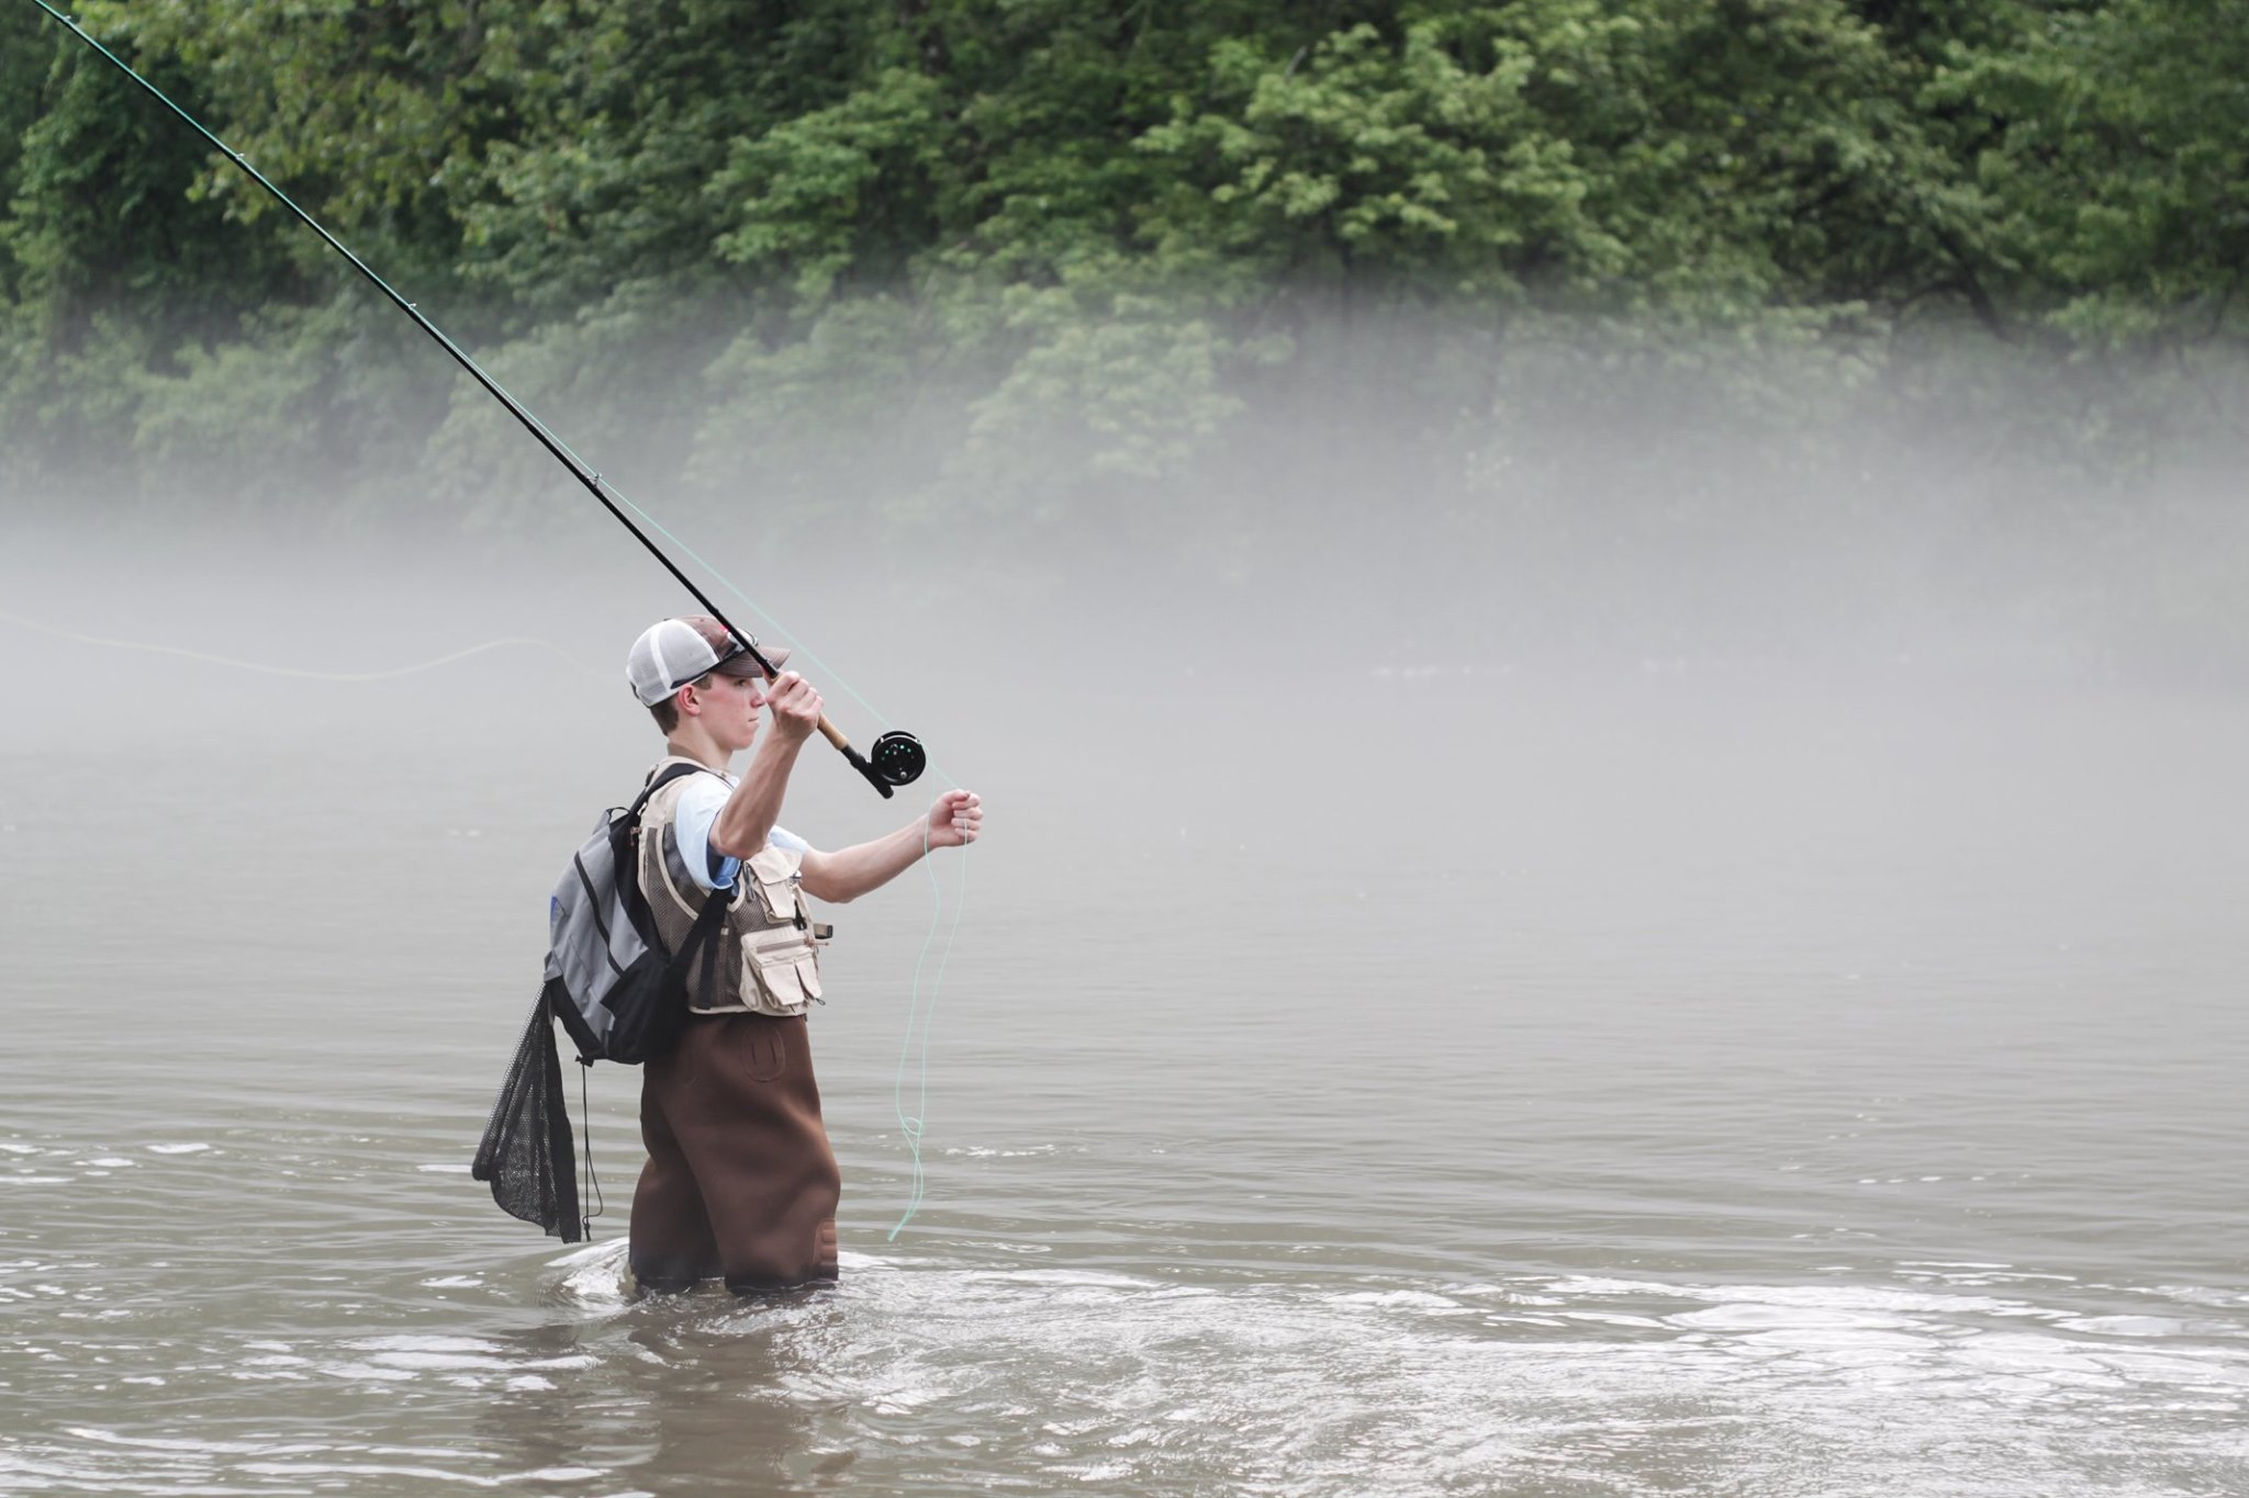
[[[1039,514],[1226,483],[1343,402],[1385,433],[1367,472],[1473,496],[1554,402],[1968,420],[2026,371],[2051,400],[2004,422],[2042,454],[2240,427],[2240,4],[74,13],[672,487]],[[11,487],[335,469],[511,521],[531,445],[27,0],[0,0],[0,202]]]

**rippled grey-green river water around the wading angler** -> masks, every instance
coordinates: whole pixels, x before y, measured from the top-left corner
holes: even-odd
[[[225,609],[92,633],[306,663]],[[0,1491],[2249,1491],[2249,703],[909,663],[990,835],[834,912],[843,1278],[636,1303],[630,1071],[596,1242],[468,1179],[634,618],[11,636]],[[810,752],[789,822],[904,815]]]

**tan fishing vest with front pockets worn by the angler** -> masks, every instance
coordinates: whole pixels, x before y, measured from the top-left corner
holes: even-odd
[[[672,764],[690,761],[668,757],[650,775]],[[641,811],[641,889],[663,946],[675,952],[695,912],[711,898],[688,874],[672,826],[679,793],[693,779],[681,775],[659,786]],[[805,907],[803,860],[801,851],[774,844],[742,860],[711,957],[688,975],[688,1013],[789,1017],[821,997],[819,943],[828,939],[828,928],[814,925]]]

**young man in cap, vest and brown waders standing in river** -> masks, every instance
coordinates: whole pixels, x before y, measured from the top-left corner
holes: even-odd
[[[785,649],[765,647],[780,669]],[[834,853],[778,826],[796,755],[821,694],[796,672],[765,681],[708,615],[663,620],[632,642],[625,676],[663,730],[663,766],[681,775],[641,815],[641,889],[668,948],[695,912],[726,901],[715,959],[688,984],[679,1042],[641,1074],[648,1166],[632,1195],[632,1276],[641,1289],[724,1280],[733,1291],[837,1278],[841,1172],[821,1123],[805,1006],[819,997],[816,928],[803,896],[852,901],[897,878],[927,849],[976,840],[983,804],[947,791],[927,817]],[[740,779],[733,757],[774,732]]]

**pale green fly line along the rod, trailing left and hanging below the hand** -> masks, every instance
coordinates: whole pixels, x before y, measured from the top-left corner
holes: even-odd
[[[353,249],[349,245],[344,245],[340,238],[335,238],[333,234],[328,234],[328,229],[324,229],[322,222],[317,218],[313,218],[306,209],[297,207],[297,202],[288,193],[283,193],[279,186],[274,186],[265,177],[265,173],[261,173],[256,166],[250,164],[250,157],[245,157],[241,150],[227,146],[227,141],[218,139],[218,135],[214,135],[211,130],[207,130],[200,119],[196,119],[193,115],[189,115],[187,110],[182,110],[178,103],[173,103],[171,97],[164,94],[164,90],[160,90],[148,79],[139,76],[124,58],[119,58],[115,52],[110,52],[99,40],[94,40],[94,36],[88,34],[72,16],[65,16],[63,11],[54,9],[54,4],[49,4],[47,0],[31,0],[31,4],[36,4],[38,9],[43,9],[47,16],[52,16],[54,20],[58,20],[65,29],[70,29],[72,36],[76,36],[81,43],[85,43],[97,54],[101,54],[101,58],[108,61],[112,67],[117,67],[117,72],[121,72],[128,79],[133,79],[157,103],[162,103],[166,110],[171,110],[173,115],[178,115],[191,130],[196,130],[196,135],[200,135],[202,139],[211,141],[211,146],[218,148],[220,155],[225,155],[229,162],[234,162],[236,166],[241,166],[259,186],[263,186],[268,193],[272,193],[272,198],[281,207],[286,207],[290,213],[295,213],[331,249],[335,249],[340,256],[344,256],[351,263],[353,270],[358,270],[362,276],[367,276],[376,285],[376,290],[380,290],[385,296],[389,296],[391,303],[414,321],[414,326],[418,326],[423,332],[427,332],[439,344],[439,348],[443,348],[454,359],[454,364],[459,364],[463,371],[468,371],[477,380],[477,384],[481,384],[486,389],[486,393],[493,395],[493,400],[497,400],[508,411],[508,415],[513,415],[524,427],[524,431],[529,431],[558,463],[562,463],[562,467],[569,469],[571,478],[576,478],[580,485],[585,485],[585,490],[589,494],[594,494],[594,499],[600,501],[600,505],[627,532],[632,532],[632,539],[639,541],[648,550],[648,555],[652,555],[663,566],[663,570],[668,570],[672,575],[672,579],[679,582],[679,586],[686,588],[695,597],[697,604],[702,604],[713,618],[717,618],[720,624],[726,627],[729,633],[733,633],[742,642],[742,647],[749,651],[749,656],[758,665],[762,665],[767,669],[767,676],[778,676],[778,672],[774,672],[771,663],[758,649],[758,640],[753,636],[735,629],[733,622],[729,622],[726,615],[720,611],[720,606],[713,604],[711,597],[702,588],[697,588],[695,582],[684,570],[679,570],[679,566],[654,541],[650,541],[648,535],[641,532],[639,526],[632,523],[632,519],[625,514],[625,510],[632,510],[643,521],[648,521],[648,526],[652,530],[657,530],[666,541],[670,541],[672,546],[677,546],[690,561],[695,561],[711,577],[715,577],[720,584],[724,584],[724,588],[729,593],[733,593],[751,611],[756,611],[760,620],[765,620],[767,624],[774,624],[774,629],[785,640],[789,640],[796,649],[801,649],[810,663],[819,665],[819,669],[823,674],[828,674],[830,681],[834,681],[839,687],[843,687],[843,692],[855,703],[859,703],[877,721],[882,721],[882,714],[875,712],[873,703],[868,703],[864,696],[859,696],[859,692],[843,676],[837,676],[837,674],[828,672],[825,663],[821,663],[821,658],[814,651],[805,649],[803,642],[798,642],[789,631],[780,629],[778,620],[774,620],[774,615],[769,615],[765,609],[760,609],[756,604],[756,600],[751,600],[747,593],[742,593],[742,588],[738,588],[731,579],[726,579],[724,573],[720,573],[715,566],[711,566],[706,559],[702,559],[686,541],[681,541],[666,526],[661,526],[652,514],[648,514],[648,510],[643,510],[641,505],[636,505],[630,499],[625,499],[625,494],[621,490],[616,490],[616,485],[607,483],[582,458],[578,458],[578,454],[571,451],[571,447],[562,438],[558,438],[547,427],[547,422],[542,422],[538,415],[531,413],[529,407],[524,407],[520,400],[515,400],[515,395],[511,395],[493,375],[488,375],[484,371],[484,366],[477,364],[468,355],[468,350],[463,350],[459,344],[454,344],[452,337],[448,337],[443,328],[439,328],[434,321],[430,321],[427,317],[423,317],[423,312],[421,312],[421,308],[416,303],[407,301],[398,290],[391,287],[389,281],[385,281],[382,276],[378,276],[373,272],[373,267],[369,267],[367,261],[362,261],[358,254],[353,254]],[[18,622],[27,622],[27,620],[18,620]],[[31,624],[31,627],[40,629],[38,624]],[[49,631],[49,633],[63,633],[63,631]],[[130,645],[130,642],[108,642],[108,645],[121,645],[126,649],[135,649],[135,645]],[[493,642],[493,645],[504,645],[504,642]],[[544,645],[544,642],[533,642],[533,645]],[[139,647],[139,649],[157,649],[157,651],[164,651],[164,654],[180,654],[180,656],[191,656],[191,658],[196,656],[196,651],[180,651],[180,649],[171,649],[171,647]],[[490,649],[490,647],[477,647],[477,649]],[[477,649],[461,651],[461,654],[463,656],[477,654]],[[457,658],[461,658],[461,656],[452,656],[448,660],[457,660]],[[371,674],[292,672],[292,669],[286,669],[286,667],[259,667],[259,665],[247,663],[247,660],[223,660],[223,658],[211,658],[211,660],[220,660],[223,665],[236,665],[236,667],[243,667],[243,669],[272,669],[274,674],[286,674],[286,676],[315,676],[315,678],[333,678],[333,681],[376,681],[376,678],[385,676],[385,674],[373,674],[371,676]],[[425,663],[421,667],[407,667],[407,669],[409,672],[412,669],[430,669],[434,665],[445,665],[448,660],[434,660],[434,663]],[[398,672],[398,674],[405,674],[405,672]],[[821,716],[819,730],[821,730],[821,737],[825,737],[828,743],[834,746],[850,761],[850,766],[855,770],[859,770],[859,775],[870,786],[875,786],[875,791],[879,791],[884,797],[891,797],[895,786],[906,786],[913,779],[918,779],[922,775],[924,766],[933,768],[933,766],[929,766],[927,752],[922,750],[920,741],[913,734],[906,734],[902,730],[891,730],[891,732],[877,737],[875,743],[870,746],[873,759],[868,759],[866,755],[861,755],[859,750],[855,750],[850,746],[850,741],[846,741],[843,734],[825,716]],[[938,775],[940,775],[940,779],[945,779],[947,784],[954,784],[954,788],[958,788],[958,782],[951,782],[951,777],[947,777],[942,770]],[[954,903],[954,934],[958,934],[960,905],[965,903],[965,896],[967,896],[967,858],[965,858],[967,849],[963,847],[960,851],[963,851],[963,860],[960,860],[960,894],[963,894],[963,898],[958,898]],[[924,865],[929,862],[929,826],[927,826],[927,820],[924,820],[924,826],[922,826],[922,862]],[[929,869],[929,880],[931,880],[931,894],[933,894],[933,898],[938,898],[938,905],[942,907],[942,898],[936,894],[938,892],[936,869]],[[931,934],[936,932],[940,914],[942,914],[940,910],[931,912]],[[922,943],[922,957],[927,957],[927,952],[929,952],[929,939],[924,939],[924,943]],[[929,1006],[931,1008],[936,1008],[938,984],[942,984],[945,961],[949,957],[951,957],[951,934],[947,934],[945,950],[940,952],[940,959],[938,959],[938,972],[936,972],[936,979],[931,981],[931,993],[929,993]],[[909,1148],[913,1150],[913,1199],[906,1206],[906,1215],[900,1217],[897,1226],[891,1228],[891,1237],[897,1237],[900,1228],[904,1228],[906,1222],[913,1220],[913,1213],[920,1208],[920,1202],[922,1202],[922,1148],[920,1148],[920,1141],[922,1141],[922,1112],[927,1109],[927,1089],[929,1089],[929,1026],[927,1026],[927,1011],[920,1008],[920,986],[922,986],[920,984],[920,970],[922,970],[922,963],[918,959],[915,961],[915,975],[913,975],[913,988],[911,988],[911,997],[909,997],[909,1029],[906,1029],[906,1049],[911,1051],[913,1049],[915,1015],[922,1015],[922,1024],[920,1024],[920,1029],[922,1029],[922,1049],[920,1049],[920,1056],[922,1056],[922,1091],[920,1091],[920,1100],[915,1105],[918,1112],[911,1114],[911,1116],[904,1112],[904,1053],[900,1056],[900,1076],[897,1076],[897,1085],[895,1085],[895,1091],[893,1091],[893,1100],[897,1103],[897,1114],[900,1114],[900,1127],[906,1130]],[[909,1127],[909,1123],[911,1123],[911,1127]]]

